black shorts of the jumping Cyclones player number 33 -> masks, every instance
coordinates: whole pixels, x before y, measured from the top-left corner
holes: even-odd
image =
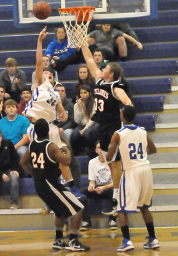
[[[100,148],[103,151],[108,151],[108,147],[111,143],[111,137],[116,130],[121,129],[121,122],[108,122],[101,123],[99,130]],[[120,156],[116,156],[116,160],[119,160]]]

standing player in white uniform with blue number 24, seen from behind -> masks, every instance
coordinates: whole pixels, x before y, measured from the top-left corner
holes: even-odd
[[[156,153],[156,147],[147,137],[144,127],[133,124],[135,116],[134,107],[124,106],[121,109],[121,121],[123,121],[124,127],[113,134],[106,156],[107,161],[110,161],[119,148],[123,168],[119,184],[118,214],[124,239],[123,244],[117,248],[118,252],[134,249],[129,234],[127,213],[136,212],[137,208],[140,208],[142,212],[149,234],[144,248],[160,247],[155,237],[153,217],[148,210],[148,207],[152,205],[153,176],[147,155]]]

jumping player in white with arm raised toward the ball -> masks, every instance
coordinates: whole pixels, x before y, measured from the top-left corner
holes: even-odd
[[[46,38],[46,35],[46,27],[44,27],[39,33],[36,49],[35,78],[34,84],[31,87],[32,100],[29,101],[28,105],[26,105],[24,113],[26,116],[32,117],[32,123],[27,130],[30,141],[36,139],[34,123],[39,118],[44,118],[49,123],[49,140],[57,144],[59,148],[62,148],[65,145],[60,140],[58,127],[52,124],[52,121],[56,118],[56,109],[61,121],[67,121],[68,116],[63,109],[59,93],[52,87],[55,74],[54,70],[50,68],[44,69],[42,65],[42,40]],[[71,176],[68,166],[59,164],[59,167],[62,171],[63,178],[68,182],[68,186],[73,186],[73,177]]]

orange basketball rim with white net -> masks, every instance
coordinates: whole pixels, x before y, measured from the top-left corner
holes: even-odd
[[[92,15],[94,14],[95,7],[71,7],[58,9],[63,25],[65,27],[68,46],[70,48],[81,47],[87,44],[87,28],[91,22]],[[73,17],[75,16],[75,21]],[[67,17],[67,19],[66,19]],[[67,23],[67,21],[69,23]]]

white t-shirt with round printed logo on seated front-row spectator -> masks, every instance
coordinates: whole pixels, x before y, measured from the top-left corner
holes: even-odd
[[[105,186],[113,182],[108,164],[101,163],[99,156],[89,161],[89,180],[95,181],[96,186]]]

